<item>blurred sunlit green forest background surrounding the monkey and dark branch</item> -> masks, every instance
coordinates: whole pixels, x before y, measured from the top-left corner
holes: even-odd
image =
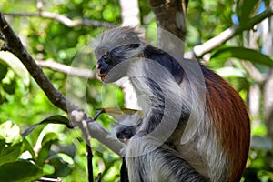
[[[64,94],[69,89],[68,97],[74,100],[75,96],[79,106],[84,101],[86,111],[94,116],[96,109],[106,106],[134,107],[136,99],[128,100],[130,96],[126,94],[130,95],[130,91],[126,86],[104,86],[97,79],[96,60],[88,49],[92,37],[118,25],[140,25],[149,41],[156,41],[158,12],[153,11],[153,3],[0,0],[0,11],[54,86]],[[272,8],[272,0],[189,0],[186,16],[181,17],[186,20],[186,34],[177,35],[185,41],[186,56],[197,58],[226,78],[248,106],[252,140],[241,181],[273,181]],[[223,32],[231,35],[225,37]],[[212,38],[218,44],[204,50],[204,43]],[[75,71],[73,67],[81,69]],[[86,69],[91,70],[90,75],[85,74]],[[87,87],[74,80],[74,85],[67,88],[67,78],[82,79]],[[24,140],[20,137],[20,132],[28,126],[49,116],[66,114],[49,102],[20,61],[3,51],[0,52],[0,105],[0,148],[12,144],[5,151],[0,150],[0,177],[9,170],[20,175],[24,168],[21,163],[9,168],[1,165],[18,162],[20,158],[35,158],[38,168],[29,170],[33,177],[59,177],[65,182],[87,180],[86,144],[78,128],[48,124],[37,126]],[[109,128],[113,119],[102,115],[97,122]],[[6,135],[12,138],[9,142]],[[95,180],[101,173],[102,181],[117,181],[120,157],[96,139],[91,144]]]

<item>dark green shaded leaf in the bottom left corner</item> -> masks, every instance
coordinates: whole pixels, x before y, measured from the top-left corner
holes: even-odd
[[[6,163],[0,166],[0,182],[35,181],[43,176],[43,169],[27,160]]]

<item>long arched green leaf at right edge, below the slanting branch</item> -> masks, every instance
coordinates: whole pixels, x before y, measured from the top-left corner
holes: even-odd
[[[211,56],[211,59],[227,59],[229,57],[236,57],[238,59],[248,60],[252,63],[273,66],[273,60],[269,56],[263,55],[256,50],[241,46],[221,48]]]

